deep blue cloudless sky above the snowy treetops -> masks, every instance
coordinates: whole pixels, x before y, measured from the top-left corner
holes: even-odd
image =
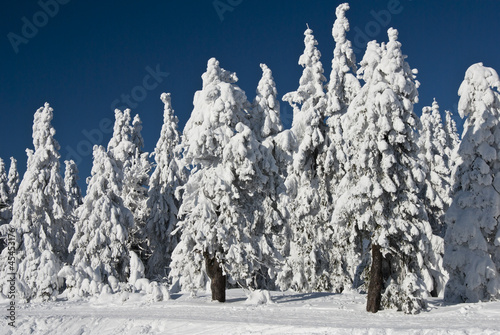
[[[145,150],[152,151],[162,123],[160,94],[172,93],[182,129],[210,57],[238,74],[249,99],[261,76],[259,63],[266,63],[281,98],[298,86],[302,70],[297,61],[308,23],[328,77],[334,48],[331,29],[341,3],[219,0],[232,10],[218,13],[213,0],[59,1],[67,3],[60,4],[53,17],[43,14],[37,1],[10,0],[2,6],[0,157],[7,167],[9,157],[16,157],[21,172],[25,170],[25,149],[33,148],[33,114],[47,101],[54,108],[62,160],[79,163],[82,181],[90,174],[90,142],[106,145],[111,137],[105,123],[114,118],[116,99],[135,93],[130,107],[141,116]],[[500,71],[498,0],[371,0],[351,1],[350,6],[348,37],[359,50],[358,61],[363,35],[381,42],[387,40],[387,28],[399,30],[407,61],[419,70],[417,113],[434,97],[442,111],[456,112],[458,87],[471,64],[483,62]],[[384,15],[388,8],[390,17]],[[378,21],[376,13],[381,13]],[[27,28],[33,23],[39,26],[35,32]],[[14,47],[9,36],[25,38],[23,33],[27,43]],[[156,69],[163,73],[158,80],[148,77]],[[289,126],[291,108],[285,103],[282,117]],[[85,131],[94,140],[89,141]]]

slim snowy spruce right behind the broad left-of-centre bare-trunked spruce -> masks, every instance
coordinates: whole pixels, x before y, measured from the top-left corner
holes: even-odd
[[[285,220],[280,211],[280,196],[286,191],[284,178],[277,165],[279,147],[276,136],[283,130],[280,119],[280,105],[276,83],[272,71],[265,64],[260,64],[262,78],[259,81],[256,97],[250,112],[250,123],[257,141],[260,143],[261,156],[255,162],[266,176],[261,192],[253,192],[250,200],[253,209],[254,243],[261,245],[268,252],[262,254],[262,266],[254,274],[254,287],[275,288],[275,274],[282,262],[280,252],[284,241]]]

